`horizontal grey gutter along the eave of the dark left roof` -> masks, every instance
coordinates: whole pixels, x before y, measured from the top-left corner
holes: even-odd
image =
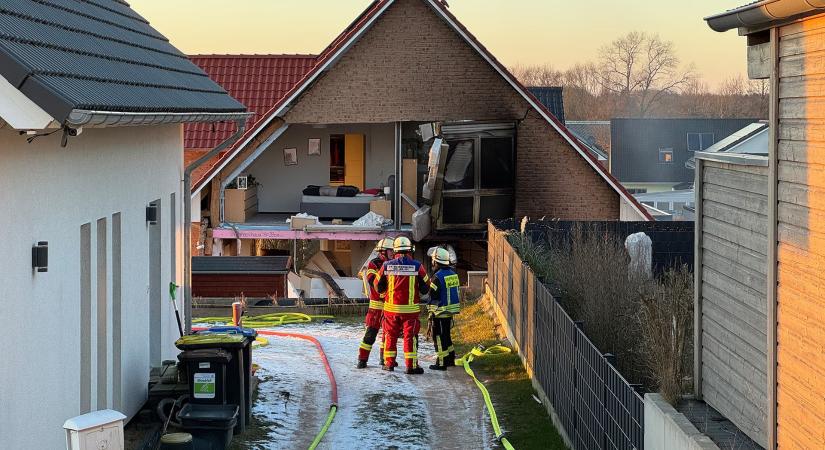
[[[66,125],[78,127],[126,127],[164,125],[192,122],[236,122],[246,121],[251,116],[248,112],[189,112],[189,113],[138,113],[91,111],[74,109],[66,118]]]

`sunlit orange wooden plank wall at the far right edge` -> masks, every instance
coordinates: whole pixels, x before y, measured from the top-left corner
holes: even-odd
[[[825,16],[777,31],[777,439],[825,448]]]

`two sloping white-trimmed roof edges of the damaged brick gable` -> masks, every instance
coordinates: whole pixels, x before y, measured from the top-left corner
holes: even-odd
[[[647,220],[653,220],[653,217],[647,210],[630,195],[630,193],[608,173],[595,156],[593,156],[585,146],[560,122],[550,110],[544,106],[535,95],[533,95],[524,85],[522,85],[515,76],[499,62],[486,47],[484,47],[478,39],[473,36],[464,25],[449,11],[446,5],[440,0],[421,0],[442,19],[449,27],[453,29],[470,47],[479,53],[479,55],[486,60],[513,89],[520,94],[533,109],[538,112],[541,117],[555,129],[562,138],[579,153],[585,161],[590,164],[591,168],[599,174],[605,182],[619,195],[619,197],[627,202],[639,215]],[[212,168],[198,180],[192,189],[192,194],[200,192],[201,189],[237,154],[242,151],[261,131],[277,117],[281,117],[286,112],[292,102],[294,102],[304,91],[308,90],[315,80],[328,68],[334,65],[349,48],[358,41],[358,39],[366,33],[375,21],[383,15],[387,9],[392,6],[396,0],[374,0],[367,9],[359,15],[355,21],[348,26],[341,35],[339,35],[318,57],[315,66],[306,73],[304,78],[278,101],[265,115],[262,117],[251,129],[249,129],[243,137],[241,137],[230,151],[221,157]]]

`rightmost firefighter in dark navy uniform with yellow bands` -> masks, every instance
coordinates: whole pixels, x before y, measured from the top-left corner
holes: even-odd
[[[430,301],[427,305],[432,322],[433,342],[435,343],[436,363],[430,370],[447,370],[455,366],[455,348],[450,329],[453,316],[461,311],[459,301],[459,279],[450,267],[450,252],[437,248],[433,253],[433,270],[435,274],[430,284]]]

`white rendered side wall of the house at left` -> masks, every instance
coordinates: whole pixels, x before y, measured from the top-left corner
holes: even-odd
[[[150,355],[175,356],[165,293],[170,280],[182,284],[182,127],[87,129],[66,148],[60,133],[25,138],[0,130],[0,446],[59,449],[63,422],[84,409],[135,414],[146,400]],[[145,207],[158,199],[153,229]],[[155,290],[164,293],[156,298],[152,234]],[[32,271],[37,241],[49,242],[47,273]]]

